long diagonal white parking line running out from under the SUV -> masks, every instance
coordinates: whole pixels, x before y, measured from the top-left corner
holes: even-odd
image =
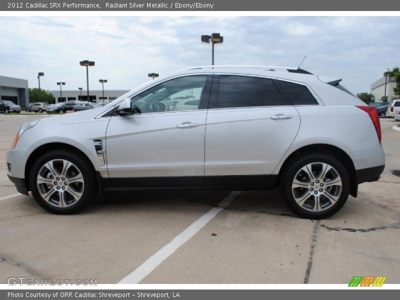
[[[232,191],[227,197],[218,203],[218,206],[225,207],[240,193],[240,191]],[[222,207],[213,207],[208,212],[204,213],[197,220],[195,220],[190,226],[180,232],[174,239],[168,244],[163,246],[153,255],[151,255],[146,261],[144,261],[139,267],[133,272],[128,274],[126,277],[121,279],[118,283],[139,283],[145,276],[147,276],[152,270],[154,270],[162,261],[168,258],[173,252],[175,252],[182,244],[188,241],[194,234],[196,234],[206,223],[208,223]]]

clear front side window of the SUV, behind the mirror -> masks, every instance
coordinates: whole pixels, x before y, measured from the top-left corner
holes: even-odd
[[[179,77],[162,82],[131,98],[139,113],[198,109],[206,75]]]

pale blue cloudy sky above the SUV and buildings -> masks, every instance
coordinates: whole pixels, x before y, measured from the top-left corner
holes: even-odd
[[[352,92],[400,65],[400,17],[0,17],[0,75],[28,79],[57,89],[86,86],[79,60],[89,68],[89,88],[132,89],[148,72],[208,65],[211,46],[201,34],[220,32],[215,64],[297,66],[343,78]]]

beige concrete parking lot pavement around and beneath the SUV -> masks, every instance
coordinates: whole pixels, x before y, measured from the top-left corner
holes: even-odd
[[[0,115],[0,161],[30,119]],[[151,267],[141,283],[348,283],[356,275],[399,283],[395,123],[381,119],[381,179],[359,185],[357,198],[349,196],[338,213],[320,221],[293,216],[277,191],[241,192],[227,205],[220,201],[229,191],[113,193],[79,214],[54,215],[28,196],[3,199],[16,190],[0,162],[0,283],[10,276],[116,283],[146,261]],[[168,252],[215,207],[213,218]]]

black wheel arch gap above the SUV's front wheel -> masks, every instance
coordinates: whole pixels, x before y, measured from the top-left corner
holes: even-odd
[[[62,143],[62,142],[45,143],[45,144],[42,144],[42,145],[38,146],[36,149],[34,149],[30,153],[28,159],[26,160],[25,171],[24,171],[26,190],[30,190],[30,187],[29,187],[29,172],[30,172],[30,169],[33,166],[33,163],[44,152],[47,152],[47,151],[50,151],[50,150],[55,150],[55,149],[68,149],[68,150],[75,151],[75,152],[79,153],[80,155],[82,155],[82,157],[84,157],[84,159],[86,159],[90,163],[90,165],[93,168],[93,172],[95,171],[95,168],[94,168],[93,163],[91,162],[90,158],[82,150],[80,150],[79,148],[77,148],[75,146],[72,146],[70,144],[67,144],[67,143]]]

